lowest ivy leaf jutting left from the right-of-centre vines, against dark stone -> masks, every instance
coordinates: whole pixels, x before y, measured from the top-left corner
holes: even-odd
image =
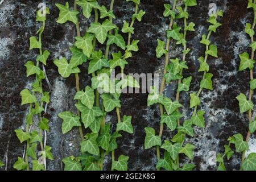
[[[145,149],[154,147],[154,146],[161,146],[162,141],[159,136],[155,136],[155,130],[151,127],[145,127],[146,137],[144,141]]]

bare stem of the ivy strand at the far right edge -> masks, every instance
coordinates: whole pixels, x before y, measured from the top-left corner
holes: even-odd
[[[256,3],[256,1],[254,0],[254,3]],[[251,30],[254,30],[255,28],[255,25],[256,25],[256,21],[255,21],[255,18],[256,18],[256,11],[254,11],[254,21],[253,21],[253,26],[251,26]],[[251,43],[254,42],[254,38],[253,36],[251,36]],[[254,60],[254,51],[253,49],[251,50],[251,59]],[[253,69],[250,69],[250,80],[253,80]],[[253,90],[250,89],[249,91],[249,101],[251,101],[251,98],[253,96]],[[251,114],[251,109],[248,111],[248,118],[249,118],[249,123],[252,122],[252,114]],[[250,139],[250,136],[251,136],[251,133],[250,131],[248,131],[247,135],[246,135],[246,142],[249,142],[249,139]],[[243,154],[242,154],[242,163],[243,161],[245,160],[245,151],[243,151]]]

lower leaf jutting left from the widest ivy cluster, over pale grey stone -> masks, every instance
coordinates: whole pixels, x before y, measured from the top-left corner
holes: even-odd
[[[81,126],[80,117],[73,115],[71,111],[64,111],[59,113],[58,116],[63,119],[61,126],[62,133],[68,133],[74,126]]]

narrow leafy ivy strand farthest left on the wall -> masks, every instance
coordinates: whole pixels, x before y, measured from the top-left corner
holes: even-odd
[[[49,9],[46,7],[46,14],[49,14]],[[51,147],[46,145],[47,131],[49,131],[48,119],[44,118],[44,114],[49,104],[49,92],[43,90],[44,80],[47,79],[44,65],[47,64],[49,51],[42,49],[42,34],[46,27],[46,14],[43,10],[36,12],[36,22],[40,22],[42,26],[39,28],[36,36],[30,38],[30,50],[38,49],[39,55],[35,61],[27,61],[26,67],[27,77],[35,77],[31,85],[31,89],[23,89],[20,92],[22,105],[28,105],[28,114],[26,115],[26,129],[16,129],[15,133],[20,143],[26,143],[23,158],[18,157],[14,163],[16,170],[44,171],[46,170],[46,159],[53,160]],[[35,121],[38,119],[38,126],[35,126]],[[31,130],[34,126],[35,130]],[[40,151],[37,146],[40,146]]]

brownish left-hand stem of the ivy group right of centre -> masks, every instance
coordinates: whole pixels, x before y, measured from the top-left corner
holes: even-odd
[[[174,6],[172,7],[172,11],[175,11],[175,9],[176,9],[176,3],[177,3],[177,0],[174,1]],[[174,24],[174,18],[171,18],[171,22],[169,24],[169,30],[172,29],[172,24]],[[160,90],[159,90],[159,95],[163,95],[163,90],[164,90],[164,87],[166,84],[166,78],[164,78],[164,75],[167,73],[166,67],[169,64],[170,40],[171,40],[171,38],[167,38],[166,58],[165,58],[164,72],[163,72],[163,77],[162,77],[162,83],[161,83]],[[160,116],[162,116],[163,115],[163,105],[159,104],[159,107],[160,107]],[[163,134],[163,123],[160,123],[159,137],[162,137],[162,134]],[[160,159],[160,146],[156,146],[156,156],[157,156],[157,159],[159,160]]]

